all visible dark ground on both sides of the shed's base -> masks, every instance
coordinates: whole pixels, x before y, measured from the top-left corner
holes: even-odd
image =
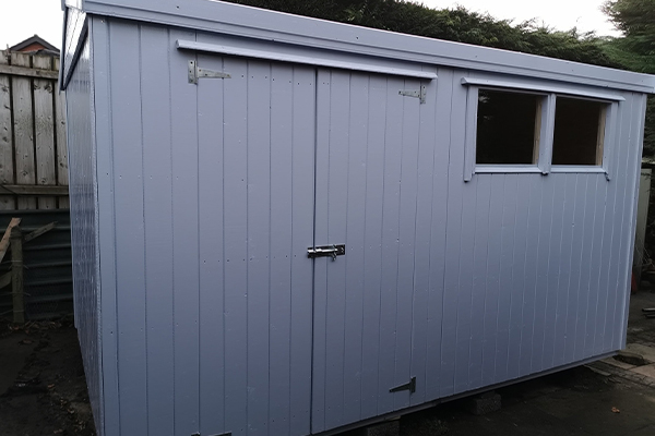
[[[655,307],[655,293],[631,300],[629,351],[643,362],[610,358],[499,389],[502,409],[483,416],[466,400],[444,403],[404,416],[401,435],[655,436],[655,319],[642,307]],[[76,332],[66,322],[0,324],[0,436],[45,435],[95,435]]]

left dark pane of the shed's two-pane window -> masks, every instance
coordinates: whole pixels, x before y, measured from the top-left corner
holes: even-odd
[[[477,164],[536,164],[537,116],[543,97],[479,89]]]

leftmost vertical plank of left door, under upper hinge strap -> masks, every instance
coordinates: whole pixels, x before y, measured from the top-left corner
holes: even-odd
[[[200,38],[199,38],[200,39]],[[199,64],[223,71],[223,58],[198,56]],[[224,87],[198,83],[198,190],[200,245],[200,434],[225,428],[224,329]]]

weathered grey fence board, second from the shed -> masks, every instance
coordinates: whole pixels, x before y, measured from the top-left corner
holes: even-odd
[[[52,58],[34,56],[33,66],[41,70],[52,70]],[[50,80],[34,80],[34,130],[36,146],[36,183],[45,185],[57,184],[55,168],[55,114],[53,88]],[[37,198],[39,209],[57,207],[56,197]]]

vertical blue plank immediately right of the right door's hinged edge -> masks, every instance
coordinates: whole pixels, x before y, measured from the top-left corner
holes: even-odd
[[[432,340],[428,330],[428,302],[430,299],[430,235],[432,220],[432,178],[434,148],[437,146],[434,120],[437,109],[437,81],[425,82],[426,104],[419,106],[419,148],[417,166],[416,242],[414,258],[414,299],[412,319],[412,375],[416,376],[416,392],[412,404],[420,404],[427,396],[427,349]],[[369,145],[370,147],[370,145]],[[376,186],[371,186],[373,191]],[[368,227],[368,225],[367,225]],[[367,300],[368,305],[368,300]],[[365,334],[365,338],[367,338]],[[365,341],[366,342],[366,341]],[[365,365],[366,367],[366,365]],[[364,401],[366,403],[366,401]]]

